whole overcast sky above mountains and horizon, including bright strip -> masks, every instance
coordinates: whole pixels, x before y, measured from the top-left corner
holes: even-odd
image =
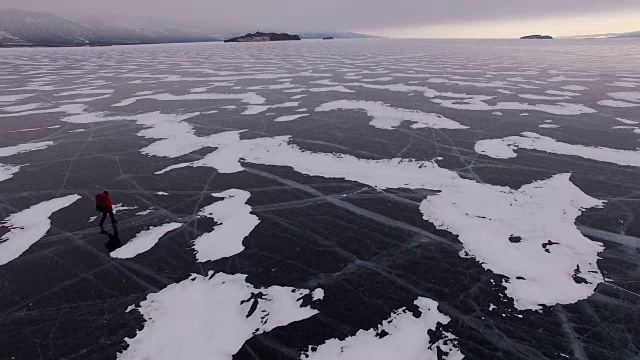
[[[224,27],[403,37],[510,37],[640,30],[640,0],[1,0],[56,13],[127,14]]]

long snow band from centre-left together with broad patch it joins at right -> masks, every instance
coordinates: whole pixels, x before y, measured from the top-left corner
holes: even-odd
[[[240,140],[237,132],[232,136],[234,141],[227,138],[225,144],[203,159],[176,164],[158,173],[187,166],[233,173],[242,171],[240,161],[245,161],[289,166],[302,174],[342,178],[380,189],[437,190],[441,193],[421,205],[425,220],[458,234],[465,247],[463,254],[507,276],[504,286],[517,308],[573,303],[588,297],[602,282],[596,265],[602,247],[582,236],[574,225],[583,209],[602,202],[575,187],[568,174],[513,190],[463,179],[430,161],[364,160],[304,151],[289,144],[287,136],[250,140]],[[511,235],[522,236],[529,245],[511,243]],[[549,240],[559,244],[556,252],[544,251],[542,244]],[[512,256],[503,256],[505,252]],[[574,281],[576,267],[583,269],[585,275],[581,276],[587,282]],[[545,270],[537,271],[540,268]],[[520,276],[525,280],[516,279]]]

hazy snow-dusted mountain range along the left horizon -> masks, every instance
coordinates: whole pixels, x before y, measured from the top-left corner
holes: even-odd
[[[208,24],[123,17],[62,17],[52,13],[0,9],[0,46],[99,46],[221,41],[242,33],[214,31]],[[246,31],[244,31],[246,33]],[[368,37],[356,33],[309,32],[303,38]]]

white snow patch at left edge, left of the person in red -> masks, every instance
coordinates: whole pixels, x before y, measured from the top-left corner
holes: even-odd
[[[51,227],[49,217],[80,199],[79,195],[67,195],[33,205],[10,215],[2,221],[9,232],[0,237],[0,265],[4,265],[27,251],[40,240]]]

